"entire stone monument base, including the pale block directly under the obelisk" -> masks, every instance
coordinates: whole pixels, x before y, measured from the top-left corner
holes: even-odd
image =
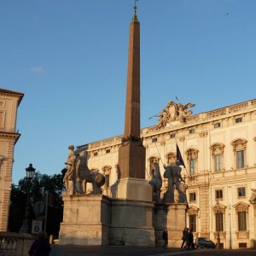
[[[167,228],[168,246],[180,247],[186,204],[154,204],[151,186],[140,183],[139,179],[121,179],[118,185],[117,195],[128,199],[110,199],[105,195],[62,196],[60,244],[162,246],[162,233]],[[137,196],[143,200],[132,200]]]

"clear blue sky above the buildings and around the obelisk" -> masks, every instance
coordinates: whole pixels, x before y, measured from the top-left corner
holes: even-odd
[[[133,0],[0,0],[0,88],[18,109],[13,182],[53,175],[69,144],[123,134]],[[141,127],[177,96],[193,113],[256,98],[255,0],[139,0]]]

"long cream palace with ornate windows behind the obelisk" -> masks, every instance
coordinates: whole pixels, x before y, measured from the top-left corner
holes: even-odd
[[[192,115],[195,104],[167,102],[155,126],[141,130],[145,177],[155,162],[172,165],[178,145],[186,168],[187,227],[195,237],[220,237],[224,248],[253,247],[256,240],[256,100]],[[103,193],[115,198],[123,136],[79,146],[88,166],[107,178]],[[163,177],[162,195],[167,188]],[[89,185],[87,192],[90,192]]]

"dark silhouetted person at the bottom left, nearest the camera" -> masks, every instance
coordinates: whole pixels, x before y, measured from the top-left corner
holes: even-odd
[[[38,239],[32,243],[28,254],[30,256],[49,256],[51,248],[45,232],[38,233]]]

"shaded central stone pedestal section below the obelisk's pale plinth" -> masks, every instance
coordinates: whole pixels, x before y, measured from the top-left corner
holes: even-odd
[[[109,244],[154,247],[153,202],[116,199],[111,208]]]

